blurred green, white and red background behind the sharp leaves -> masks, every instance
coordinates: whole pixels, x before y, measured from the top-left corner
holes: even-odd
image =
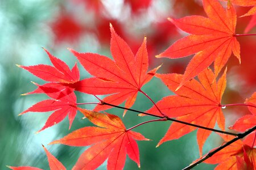
[[[225,5],[225,3],[223,3]],[[238,16],[249,9],[237,7]],[[201,1],[196,0],[2,0],[0,1],[0,169],[6,165],[29,165],[43,169],[48,168],[46,154],[42,145],[59,159],[67,169],[71,169],[84,151],[85,147],[62,145],[47,146],[54,139],[59,139],[69,132],[83,126],[90,126],[88,121],[81,120],[77,113],[71,130],[68,120],[35,134],[44,125],[51,113],[18,114],[32,104],[47,99],[44,95],[20,96],[35,89],[30,81],[42,84],[42,80],[18,68],[19,65],[51,64],[41,47],[63,59],[73,66],[75,57],[67,50],[73,48],[79,52],[100,53],[111,57],[109,51],[109,23],[115,31],[137,52],[144,35],[147,36],[147,49],[150,67],[163,63],[159,73],[184,73],[185,66],[191,57],[181,59],[156,59],[154,56],[163,52],[172,42],[186,33],[175,28],[167,17],[181,18],[187,15],[204,15]],[[250,17],[238,18],[237,33],[243,33]],[[250,32],[255,32],[251,29]],[[223,104],[243,103],[255,91],[256,83],[256,39],[255,37],[238,37],[241,42],[239,65],[235,57],[228,62],[228,86]],[[81,78],[90,75],[82,69]],[[171,95],[160,80],[154,78],[143,90],[154,101]],[[94,97],[77,94],[79,102],[96,101]],[[146,111],[151,107],[150,101],[139,95],[134,109]],[[92,109],[92,106],[86,105]],[[119,109],[110,109],[109,113],[122,116]],[[226,108],[226,127],[232,125],[238,117],[247,114],[247,108]],[[136,113],[127,112],[123,118],[127,128],[150,117],[137,117]],[[171,122],[153,122],[140,126],[135,131],[152,139],[150,142],[139,141],[141,169],[182,169],[199,158],[196,143],[196,131],[179,140],[164,143],[155,148],[166,133]],[[219,146],[221,139],[210,135],[204,146],[204,153]],[[98,169],[105,169],[106,162]],[[214,165],[200,164],[195,169],[213,169]],[[137,165],[127,158],[125,169],[138,169]]]

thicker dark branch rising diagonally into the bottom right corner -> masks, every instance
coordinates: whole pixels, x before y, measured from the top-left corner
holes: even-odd
[[[188,167],[185,167],[183,170],[188,170],[188,169],[191,169],[193,167],[195,167],[196,165],[204,162],[205,160],[207,160],[208,158],[210,158],[212,155],[216,154],[218,151],[224,149],[225,147],[231,145],[232,143],[238,141],[239,139],[242,139],[243,137],[245,137],[246,135],[250,134],[251,132],[253,132],[254,130],[256,130],[256,126],[254,126],[253,128],[251,129],[248,129],[246,130],[244,133],[240,133],[238,134],[238,136],[234,139],[232,139],[231,141],[229,142],[226,142],[224,145],[221,145],[220,147],[216,148],[216,150],[213,150],[213,151],[210,151],[208,152],[207,155],[205,155],[202,159],[198,160],[197,162],[189,165]]]

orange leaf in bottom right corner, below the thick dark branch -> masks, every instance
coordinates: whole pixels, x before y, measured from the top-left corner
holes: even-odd
[[[227,135],[221,135],[221,137],[225,142],[233,139],[233,137]],[[215,168],[216,170],[241,168],[249,170],[256,168],[255,156],[256,148],[247,146],[243,141],[238,140],[218,151],[204,162],[209,164],[218,164]]]

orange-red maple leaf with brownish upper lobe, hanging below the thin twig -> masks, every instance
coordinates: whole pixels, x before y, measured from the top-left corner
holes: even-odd
[[[122,120],[113,114],[98,113],[79,108],[94,125],[73,131],[64,138],[49,143],[69,146],[90,146],[85,150],[73,169],[96,169],[108,158],[108,169],[123,169],[126,154],[140,167],[139,148],[135,140],[148,141],[142,134],[127,131]]]

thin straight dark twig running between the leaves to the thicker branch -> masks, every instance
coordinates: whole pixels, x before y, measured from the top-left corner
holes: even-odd
[[[135,109],[129,109],[129,108],[125,108],[125,107],[120,107],[120,106],[118,106],[118,105],[113,105],[113,104],[110,104],[110,103],[104,103],[104,104],[105,104],[105,105],[110,105],[110,106],[112,106],[112,107],[119,108],[119,109],[126,109],[126,110],[128,110],[128,111],[133,111],[133,112],[137,112],[137,113],[147,114],[148,116],[154,116],[154,117],[159,117],[159,118],[167,118],[167,120],[169,120],[169,121],[174,121],[174,122],[178,122],[178,123],[180,123],[180,124],[185,124],[185,125],[189,125],[189,126],[194,126],[194,127],[196,127],[196,128],[200,128],[200,129],[215,131],[215,132],[218,132],[218,133],[223,133],[223,134],[228,134],[228,135],[233,135],[233,136],[237,136],[237,135],[238,135],[237,133],[231,133],[231,132],[228,132],[228,131],[222,131],[222,130],[207,128],[207,127],[200,126],[200,125],[190,124],[190,123],[188,123],[188,122],[183,122],[183,121],[180,121],[180,120],[176,120],[176,119],[170,118],[170,117],[168,117],[168,116],[157,116],[157,115],[154,115],[154,114],[150,114],[150,113],[146,113],[146,112],[137,111],[137,110],[135,110]]]

